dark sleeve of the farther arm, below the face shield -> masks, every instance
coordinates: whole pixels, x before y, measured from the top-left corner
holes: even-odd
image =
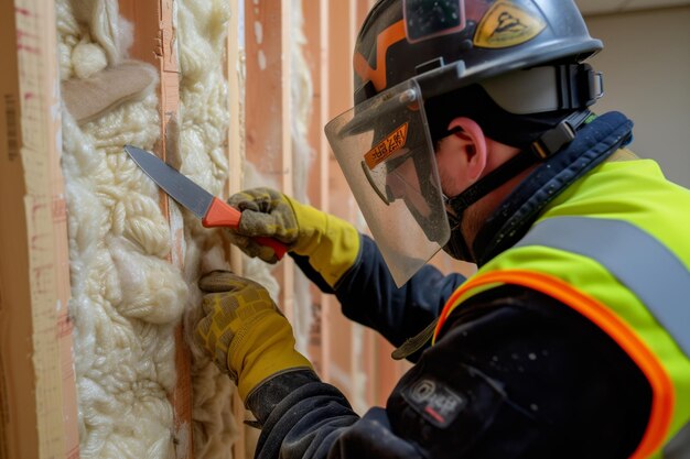
[[[336,295],[347,318],[377,330],[396,347],[431,324],[465,281],[461,274],[444,276],[427,265],[397,287],[376,243],[367,236],[362,236],[359,256],[335,289],[311,267],[308,258],[292,258],[323,292]]]

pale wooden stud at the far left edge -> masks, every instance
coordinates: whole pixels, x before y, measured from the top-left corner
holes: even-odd
[[[0,4],[0,458],[78,457],[55,14]]]

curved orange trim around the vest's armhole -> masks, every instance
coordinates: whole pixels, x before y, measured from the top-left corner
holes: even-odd
[[[649,422],[630,459],[644,459],[657,451],[664,445],[673,415],[676,393],[668,373],[647,345],[615,313],[558,277],[532,271],[505,270],[489,272],[466,282],[443,307],[433,336],[434,342],[460,296],[472,288],[496,283],[532,288],[569,305],[596,324],[625,350],[645,373],[653,390]]]

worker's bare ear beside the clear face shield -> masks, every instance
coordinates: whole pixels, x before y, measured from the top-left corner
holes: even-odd
[[[482,177],[487,162],[487,141],[484,131],[475,121],[470,118],[459,117],[449,124],[448,129],[460,128],[454,135],[460,141],[455,151],[461,153],[461,164],[459,173],[462,174],[463,182],[468,185],[474,184]]]

